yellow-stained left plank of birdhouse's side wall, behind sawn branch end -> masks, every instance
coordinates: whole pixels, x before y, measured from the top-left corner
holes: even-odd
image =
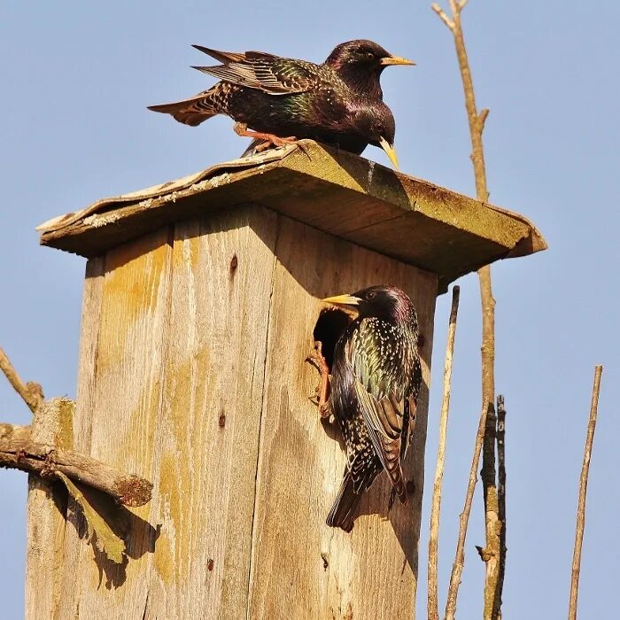
[[[169,234],[160,229],[108,252],[105,275],[98,274],[84,296],[75,447],[147,479],[153,474],[152,442],[163,385]],[[83,520],[79,511],[72,513],[55,617],[143,617],[157,537],[151,506],[112,510],[113,525],[128,543],[122,564],[106,560],[82,539]]]

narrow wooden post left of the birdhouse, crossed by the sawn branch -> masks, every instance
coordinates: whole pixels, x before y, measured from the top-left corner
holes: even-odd
[[[37,408],[33,441],[60,448],[72,444],[74,402],[50,399]],[[51,618],[62,592],[66,492],[38,476],[28,477],[26,617]]]

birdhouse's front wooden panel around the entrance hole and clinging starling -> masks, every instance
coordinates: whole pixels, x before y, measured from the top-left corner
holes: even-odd
[[[413,617],[423,451],[437,277],[280,218],[257,480],[249,617]],[[420,317],[424,387],[406,475],[415,496],[385,519],[388,483],[376,481],[353,532],[325,524],[345,453],[308,396],[318,375],[304,362],[318,299],[376,283],[398,285]],[[398,502],[397,502],[398,503]]]

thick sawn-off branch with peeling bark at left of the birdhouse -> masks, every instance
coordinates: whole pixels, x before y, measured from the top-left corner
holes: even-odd
[[[143,506],[151,500],[152,484],[148,480],[128,476],[73,450],[33,442],[28,426],[0,424],[0,467],[21,469],[48,480],[58,478],[60,472],[107,493],[125,506]]]

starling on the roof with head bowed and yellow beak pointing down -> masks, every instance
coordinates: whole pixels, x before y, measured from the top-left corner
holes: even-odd
[[[196,67],[221,81],[195,97],[150,110],[191,126],[227,114],[236,120],[239,136],[276,146],[311,138],[360,154],[370,143],[383,148],[398,167],[390,109],[381,99],[355,93],[330,66],[260,51],[199,49],[224,62]]]

